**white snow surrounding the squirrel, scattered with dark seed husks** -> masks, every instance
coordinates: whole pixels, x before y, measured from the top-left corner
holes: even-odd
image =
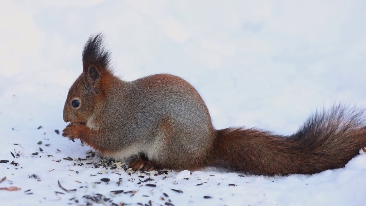
[[[315,0],[2,1],[0,160],[9,162],[0,163],[0,179],[6,176],[0,188],[21,190],[0,190],[1,205],[365,205],[361,150],[345,168],[311,176],[218,168],[135,173],[123,169],[128,163],[94,168],[100,157],[86,158],[89,147],[55,132],[67,125],[63,104],[82,71],[83,44],[99,31],[117,75],[127,81],[156,73],[183,77],[202,95],[217,129],[245,125],[289,135],[317,108],[337,102],[362,107],[365,6]],[[111,193],[118,190],[127,193]]]

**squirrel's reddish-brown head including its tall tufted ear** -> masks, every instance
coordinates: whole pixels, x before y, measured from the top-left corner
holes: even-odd
[[[64,106],[65,122],[86,124],[108,94],[112,71],[110,52],[102,34],[91,36],[83,49],[83,73],[69,89]]]

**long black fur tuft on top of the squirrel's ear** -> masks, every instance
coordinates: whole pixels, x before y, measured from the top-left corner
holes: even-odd
[[[108,69],[111,52],[105,47],[103,34],[91,35],[83,50],[83,71],[87,75],[88,67],[94,65],[99,72]]]

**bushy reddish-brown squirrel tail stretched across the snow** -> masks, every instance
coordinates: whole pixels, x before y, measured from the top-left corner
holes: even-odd
[[[363,110],[316,112],[290,136],[258,129],[217,130],[209,166],[257,175],[314,174],[342,168],[366,147]]]

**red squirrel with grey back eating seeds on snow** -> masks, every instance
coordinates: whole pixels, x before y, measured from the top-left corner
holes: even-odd
[[[171,74],[123,81],[113,74],[101,33],[87,40],[83,72],[63,110],[63,136],[133,170],[226,168],[255,175],[314,174],[342,168],[366,147],[363,110],[317,111],[290,136],[216,130],[197,90]]]

